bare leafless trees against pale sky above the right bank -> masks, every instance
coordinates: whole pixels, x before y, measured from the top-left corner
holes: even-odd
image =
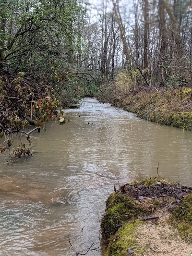
[[[121,1],[112,1],[111,10],[102,17],[102,25],[107,24],[103,45],[107,45],[102,47],[101,43],[101,56],[108,61],[103,61],[106,64],[101,70],[107,81],[111,81],[114,72],[117,76],[123,71],[132,79],[132,83],[127,84],[130,89],[145,85],[191,86],[190,4],[190,1],[179,0],[134,0],[125,7]],[[119,31],[111,36],[114,17]],[[116,59],[114,67],[112,46]]]

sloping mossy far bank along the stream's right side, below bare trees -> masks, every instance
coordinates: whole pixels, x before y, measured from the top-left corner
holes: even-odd
[[[192,88],[147,89],[100,96],[101,101],[136,113],[141,119],[166,124],[183,130],[192,130]]]

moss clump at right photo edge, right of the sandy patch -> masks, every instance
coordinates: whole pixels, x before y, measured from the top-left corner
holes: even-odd
[[[180,206],[173,210],[169,221],[182,238],[192,243],[192,194],[185,196]]]

